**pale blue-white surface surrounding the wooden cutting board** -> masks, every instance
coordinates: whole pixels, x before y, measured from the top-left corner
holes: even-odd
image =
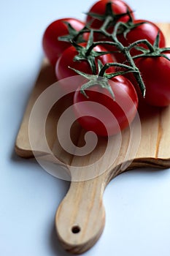
[[[1,1],[0,255],[61,256],[54,218],[69,183],[14,153],[15,137],[43,58],[42,34],[55,19],[84,19],[92,0]],[[128,4],[137,18],[169,22],[168,0]],[[170,36],[170,35],[169,35]],[[104,193],[104,233],[85,255],[170,255],[170,169],[133,170]]]

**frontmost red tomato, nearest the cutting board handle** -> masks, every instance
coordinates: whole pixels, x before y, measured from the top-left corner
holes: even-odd
[[[80,92],[80,87],[74,94],[77,121],[96,135],[115,135],[128,127],[136,116],[138,97],[132,83],[118,75],[109,80],[109,85],[115,94],[115,101],[107,89],[97,84],[85,90],[88,97]],[[107,108],[107,112],[102,106]]]

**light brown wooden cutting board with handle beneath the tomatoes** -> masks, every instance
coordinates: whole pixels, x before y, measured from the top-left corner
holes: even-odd
[[[169,24],[158,26],[165,35],[170,34]],[[170,45],[170,37],[166,38],[166,45]],[[130,129],[109,140],[98,138],[93,151],[77,155],[80,147],[85,147],[85,131],[74,122],[71,128],[74,145],[68,151],[63,149],[68,146],[66,132],[70,127],[66,120],[60,123],[61,139],[56,127],[72,101],[64,98],[56,103],[56,86],[52,86],[54,90],[50,86],[53,83],[53,68],[44,61],[28,100],[15,151],[20,157],[36,157],[54,176],[72,180],[58,207],[55,226],[63,248],[80,254],[96,243],[104,229],[102,195],[112,178],[136,167],[170,167],[170,107],[140,110]],[[48,91],[49,88],[52,90]],[[86,144],[96,142],[95,138],[86,139]],[[58,164],[63,165],[62,171],[58,170]]]

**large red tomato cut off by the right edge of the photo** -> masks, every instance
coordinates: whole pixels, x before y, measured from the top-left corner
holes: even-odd
[[[170,52],[164,53],[170,59]],[[163,56],[145,56],[135,61],[141,72],[146,95],[143,99],[149,105],[170,104],[170,61]]]

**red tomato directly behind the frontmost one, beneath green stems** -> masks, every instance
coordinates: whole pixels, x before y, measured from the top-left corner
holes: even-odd
[[[80,45],[85,49],[86,43],[81,43]],[[105,48],[103,48],[99,45],[96,46],[95,48],[93,48],[93,50],[98,51],[98,52],[107,51]],[[55,75],[58,80],[62,80],[63,78],[69,78],[74,75],[77,75],[77,73],[74,72],[74,70],[70,69],[69,67],[78,69],[81,72],[85,72],[89,75],[93,75],[92,69],[87,60],[74,61],[74,57],[77,55],[78,55],[78,51],[76,48],[74,48],[74,46],[71,46],[63,51],[63,54],[58,59],[56,65],[55,65]],[[95,59],[96,67],[98,66],[98,60],[100,60],[102,64],[107,64],[109,62],[114,61],[112,55],[109,53],[104,54],[103,56],[96,57],[96,59]],[[115,71],[114,67],[110,67],[109,69],[107,69],[107,72],[114,72],[114,71]],[[64,83],[64,81],[63,81],[62,84],[63,85],[65,84],[63,87],[65,87],[64,89],[67,91],[66,87],[70,86],[68,84],[68,82],[66,81]],[[74,89],[77,89],[77,87],[78,87],[76,83],[72,86],[74,86]]]

